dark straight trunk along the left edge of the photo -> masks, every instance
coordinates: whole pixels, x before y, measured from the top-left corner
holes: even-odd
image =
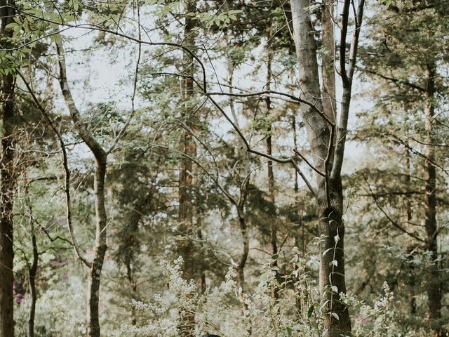
[[[0,1],[1,37],[12,37],[12,30],[6,25],[13,21],[15,11],[12,1]],[[9,41],[2,39],[3,48]],[[13,203],[15,194],[15,77],[12,74],[1,77],[1,199],[0,199],[0,337],[14,336],[13,299]]]

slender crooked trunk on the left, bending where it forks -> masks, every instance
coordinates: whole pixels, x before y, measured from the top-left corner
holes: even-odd
[[[100,143],[92,136],[86,124],[84,124],[81,114],[74,103],[72,92],[70,91],[67,81],[67,70],[65,62],[65,53],[62,41],[56,44],[58,53],[58,64],[60,68],[59,83],[64,97],[65,103],[72,118],[74,127],[84,143],[89,147],[95,157],[94,171],[94,199],[95,199],[95,244],[93,260],[87,261],[81,258],[89,268],[88,279],[88,303],[87,303],[87,320],[88,320],[88,337],[100,337],[100,319],[98,312],[98,303],[100,298],[100,279],[103,262],[106,254],[106,225],[107,214],[105,208],[105,176],[107,167],[107,153]],[[110,151],[110,150],[109,150]],[[79,250],[77,249],[77,252]]]

